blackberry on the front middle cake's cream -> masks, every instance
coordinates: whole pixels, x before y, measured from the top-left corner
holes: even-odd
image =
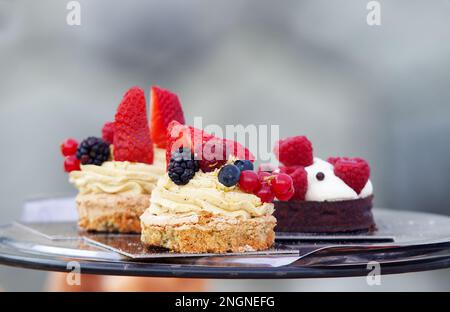
[[[178,151],[172,153],[168,173],[173,183],[177,185],[188,184],[199,169],[199,161],[194,159],[190,149],[180,147]]]

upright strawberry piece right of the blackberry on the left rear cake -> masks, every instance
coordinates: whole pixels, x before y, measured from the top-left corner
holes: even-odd
[[[114,123],[114,159],[153,163],[153,143],[148,128],[144,91],[134,87],[125,93]]]

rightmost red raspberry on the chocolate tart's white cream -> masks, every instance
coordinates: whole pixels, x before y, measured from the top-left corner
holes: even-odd
[[[361,193],[370,177],[369,164],[362,158],[330,157],[334,174],[350,186],[357,194]]]

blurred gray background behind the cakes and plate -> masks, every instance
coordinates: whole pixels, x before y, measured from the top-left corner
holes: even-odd
[[[133,85],[179,94],[188,122],[279,124],[317,156],[369,160],[377,206],[450,214],[450,2],[0,0],[0,220],[74,195],[59,143],[99,134]],[[0,267],[0,287],[45,274]],[[215,281],[214,290],[450,290],[449,270],[365,279]]]

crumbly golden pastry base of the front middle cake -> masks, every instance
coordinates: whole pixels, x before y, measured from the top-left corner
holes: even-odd
[[[275,240],[276,219],[263,216],[236,219],[199,216],[198,222],[184,224],[145,224],[141,240],[147,246],[168,248],[181,253],[226,253],[265,250]]]

